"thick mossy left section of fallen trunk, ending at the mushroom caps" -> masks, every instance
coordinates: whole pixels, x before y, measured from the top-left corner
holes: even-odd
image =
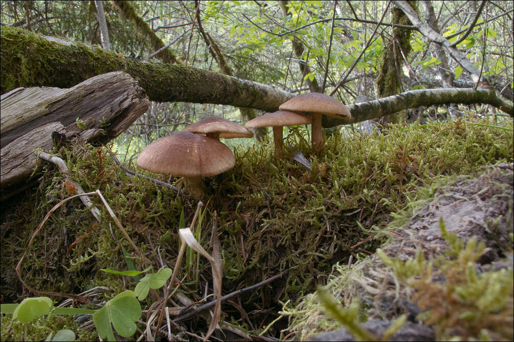
[[[192,102],[274,112],[294,94],[213,71],[136,61],[66,39],[2,26],[2,93],[17,87],[69,88],[94,75],[124,71],[156,102]]]

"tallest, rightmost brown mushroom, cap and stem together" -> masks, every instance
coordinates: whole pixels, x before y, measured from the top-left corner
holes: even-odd
[[[352,115],[348,108],[332,96],[321,93],[305,93],[290,98],[279,107],[280,110],[310,113],[312,120],[311,139],[313,147],[320,148],[323,141],[321,131],[321,115],[331,115],[340,119],[350,120]]]

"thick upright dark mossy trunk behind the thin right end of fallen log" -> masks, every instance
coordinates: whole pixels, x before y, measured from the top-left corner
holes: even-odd
[[[415,8],[415,1],[410,1],[409,3]],[[407,15],[396,6],[393,9],[393,24],[412,25]],[[395,95],[400,91],[400,73],[403,64],[402,53],[405,57],[409,56],[411,51],[411,32],[412,30],[406,28],[393,28],[393,41],[386,46],[378,69],[378,76],[375,79],[379,97]],[[403,121],[405,121],[405,112],[380,118],[381,125],[387,125],[388,123],[398,124]]]

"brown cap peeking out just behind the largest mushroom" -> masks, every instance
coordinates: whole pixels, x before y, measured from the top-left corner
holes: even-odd
[[[219,137],[225,139],[253,137],[248,129],[219,116],[208,116],[189,125],[184,131],[202,135],[219,133]]]

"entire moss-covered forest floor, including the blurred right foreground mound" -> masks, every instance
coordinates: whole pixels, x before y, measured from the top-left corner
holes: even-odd
[[[235,167],[205,179],[205,210],[196,225],[201,236],[196,236],[211,251],[216,217],[222,294],[284,274],[227,301],[220,324],[226,335],[219,338],[273,340],[291,333],[289,338],[306,339],[352,326],[356,320],[385,322],[406,314],[408,324],[423,321],[436,338],[512,339],[512,329],[501,328],[505,320],[512,321],[512,267],[502,266],[505,258],[512,260],[512,120],[492,124],[487,119],[461,118],[394,126],[382,133],[351,137],[334,133],[311,155],[308,138],[297,130],[286,138],[285,146],[290,148],[284,160],[274,160],[272,142],[236,148]],[[309,159],[310,170],[293,160],[292,146]],[[69,177],[86,192],[100,190],[135,245],[152,261],[154,271],[162,265],[173,268],[181,213],[183,223],[190,225],[196,202],[126,174],[108,154],[110,148],[75,144],[52,153],[65,161]],[[503,168],[489,167],[502,163]],[[169,182],[167,176],[141,171],[133,163],[126,167]],[[15,272],[16,263],[45,215],[74,191],[51,164],[38,180],[33,190],[2,203],[3,303],[18,303],[27,296]],[[182,189],[182,180],[173,177],[171,182]],[[136,285],[132,276],[102,269],[125,271],[132,263],[137,270],[145,267],[100,199],[91,199],[100,209],[100,222],[78,198],[62,204],[35,236],[20,274],[39,291],[79,294],[101,289],[93,305],[84,306],[98,309],[95,304]],[[440,217],[447,233],[442,233]],[[479,243],[466,247],[472,235],[485,243],[483,250]],[[444,253],[446,249],[449,254]],[[424,255],[416,256],[420,250]],[[414,261],[407,264],[398,261],[410,258]],[[200,257],[197,264],[187,264],[190,269],[183,266],[179,293],[172,297],[177,307],[186,306],[184,298],[200,303],[212,289],[207,260]],[[483,274],[494,281],[484,283]],[[461,280],[464,283],[458,283]],[[466,281],[475,285],[465,286]],[[318,286],[332,293],[337,305],[329,295],[322,296],[321,303],[320,292],[314,294]],[[495,289],[492,294],[486,291],[491,288]],[[424,298],[434,296],[440,303],[449,303],[454,315],[439,314],[438,308],[447,309],[443,305],[425,305]],[[473,300],[468,303],[469,297]],[[150,297],[141,301],[143,310],[151,304]],[[510,314],[504,314],[509,308]],[[350,318],[332,318],[337,312]],[[418,317],[420,313],[425,316]],[[469,328],[485,313],[497,324],[478,325],[478,332]],[[171,333],[179,340],[195,339],[192,333],[207,331],[206,317],[175,325]],[[455,322],[463,329],[448,328],[455,327]],[[95,338],[94,327],[87,324],[50,315],[39,318],[28,333],[30,339],[44,339],[49,331],[67,326],[82,340]],[[144,330],[143,325],[140,328]],[[240,335],[230,335],[234,331]],[[17,340],[24,328],[3,316],[1,334],[2,340]]]

